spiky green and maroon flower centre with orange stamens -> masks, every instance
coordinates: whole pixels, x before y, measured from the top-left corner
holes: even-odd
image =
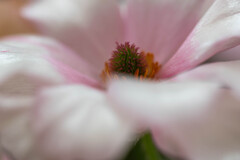
[[[104,82],[112,78],[118,79],[121,74],[134,76],[140,80],[153,79],[160,70],[161,65],[154,62],[152,53],[139,52],[139,48],[129,42],[116,44],[116,50],[113,51],[112,57],[105,62],[105,68],[101,74]]]

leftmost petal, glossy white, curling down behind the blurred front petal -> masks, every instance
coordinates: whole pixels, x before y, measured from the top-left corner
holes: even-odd
[[[39,43],[29,43],[27,39],[35,39],[35,42]],[[49,47],[56,51],[41,46],[41,41],[49,43]],[[36,93],[45,87],[72,82],[72,77],[64,74],[62,66],[49,59],[58,57],[59,59],[54,59],[58,62],[61,52],[71,56],[71,52],[66,52],[68,50],[63,46],[58,49],[59,46],[61,45],[52,40],[37,37],[18,37],[0,42],[0,143],[6,149],[14,150],[14,157],[18,159],[26,160],[26,150],[33,148],[28,114],[34,107]],[[68,57],[65,61],[68,61]],[[67,66],[64,62],[59,61],[59,64]],[[74,71],[70,67],[66,72],[71,70]],[[98,84],[89,80],[83,81],[78,76],[81,73],[76,73],[73,76],[79,78],[79,83],[90,86]]]

